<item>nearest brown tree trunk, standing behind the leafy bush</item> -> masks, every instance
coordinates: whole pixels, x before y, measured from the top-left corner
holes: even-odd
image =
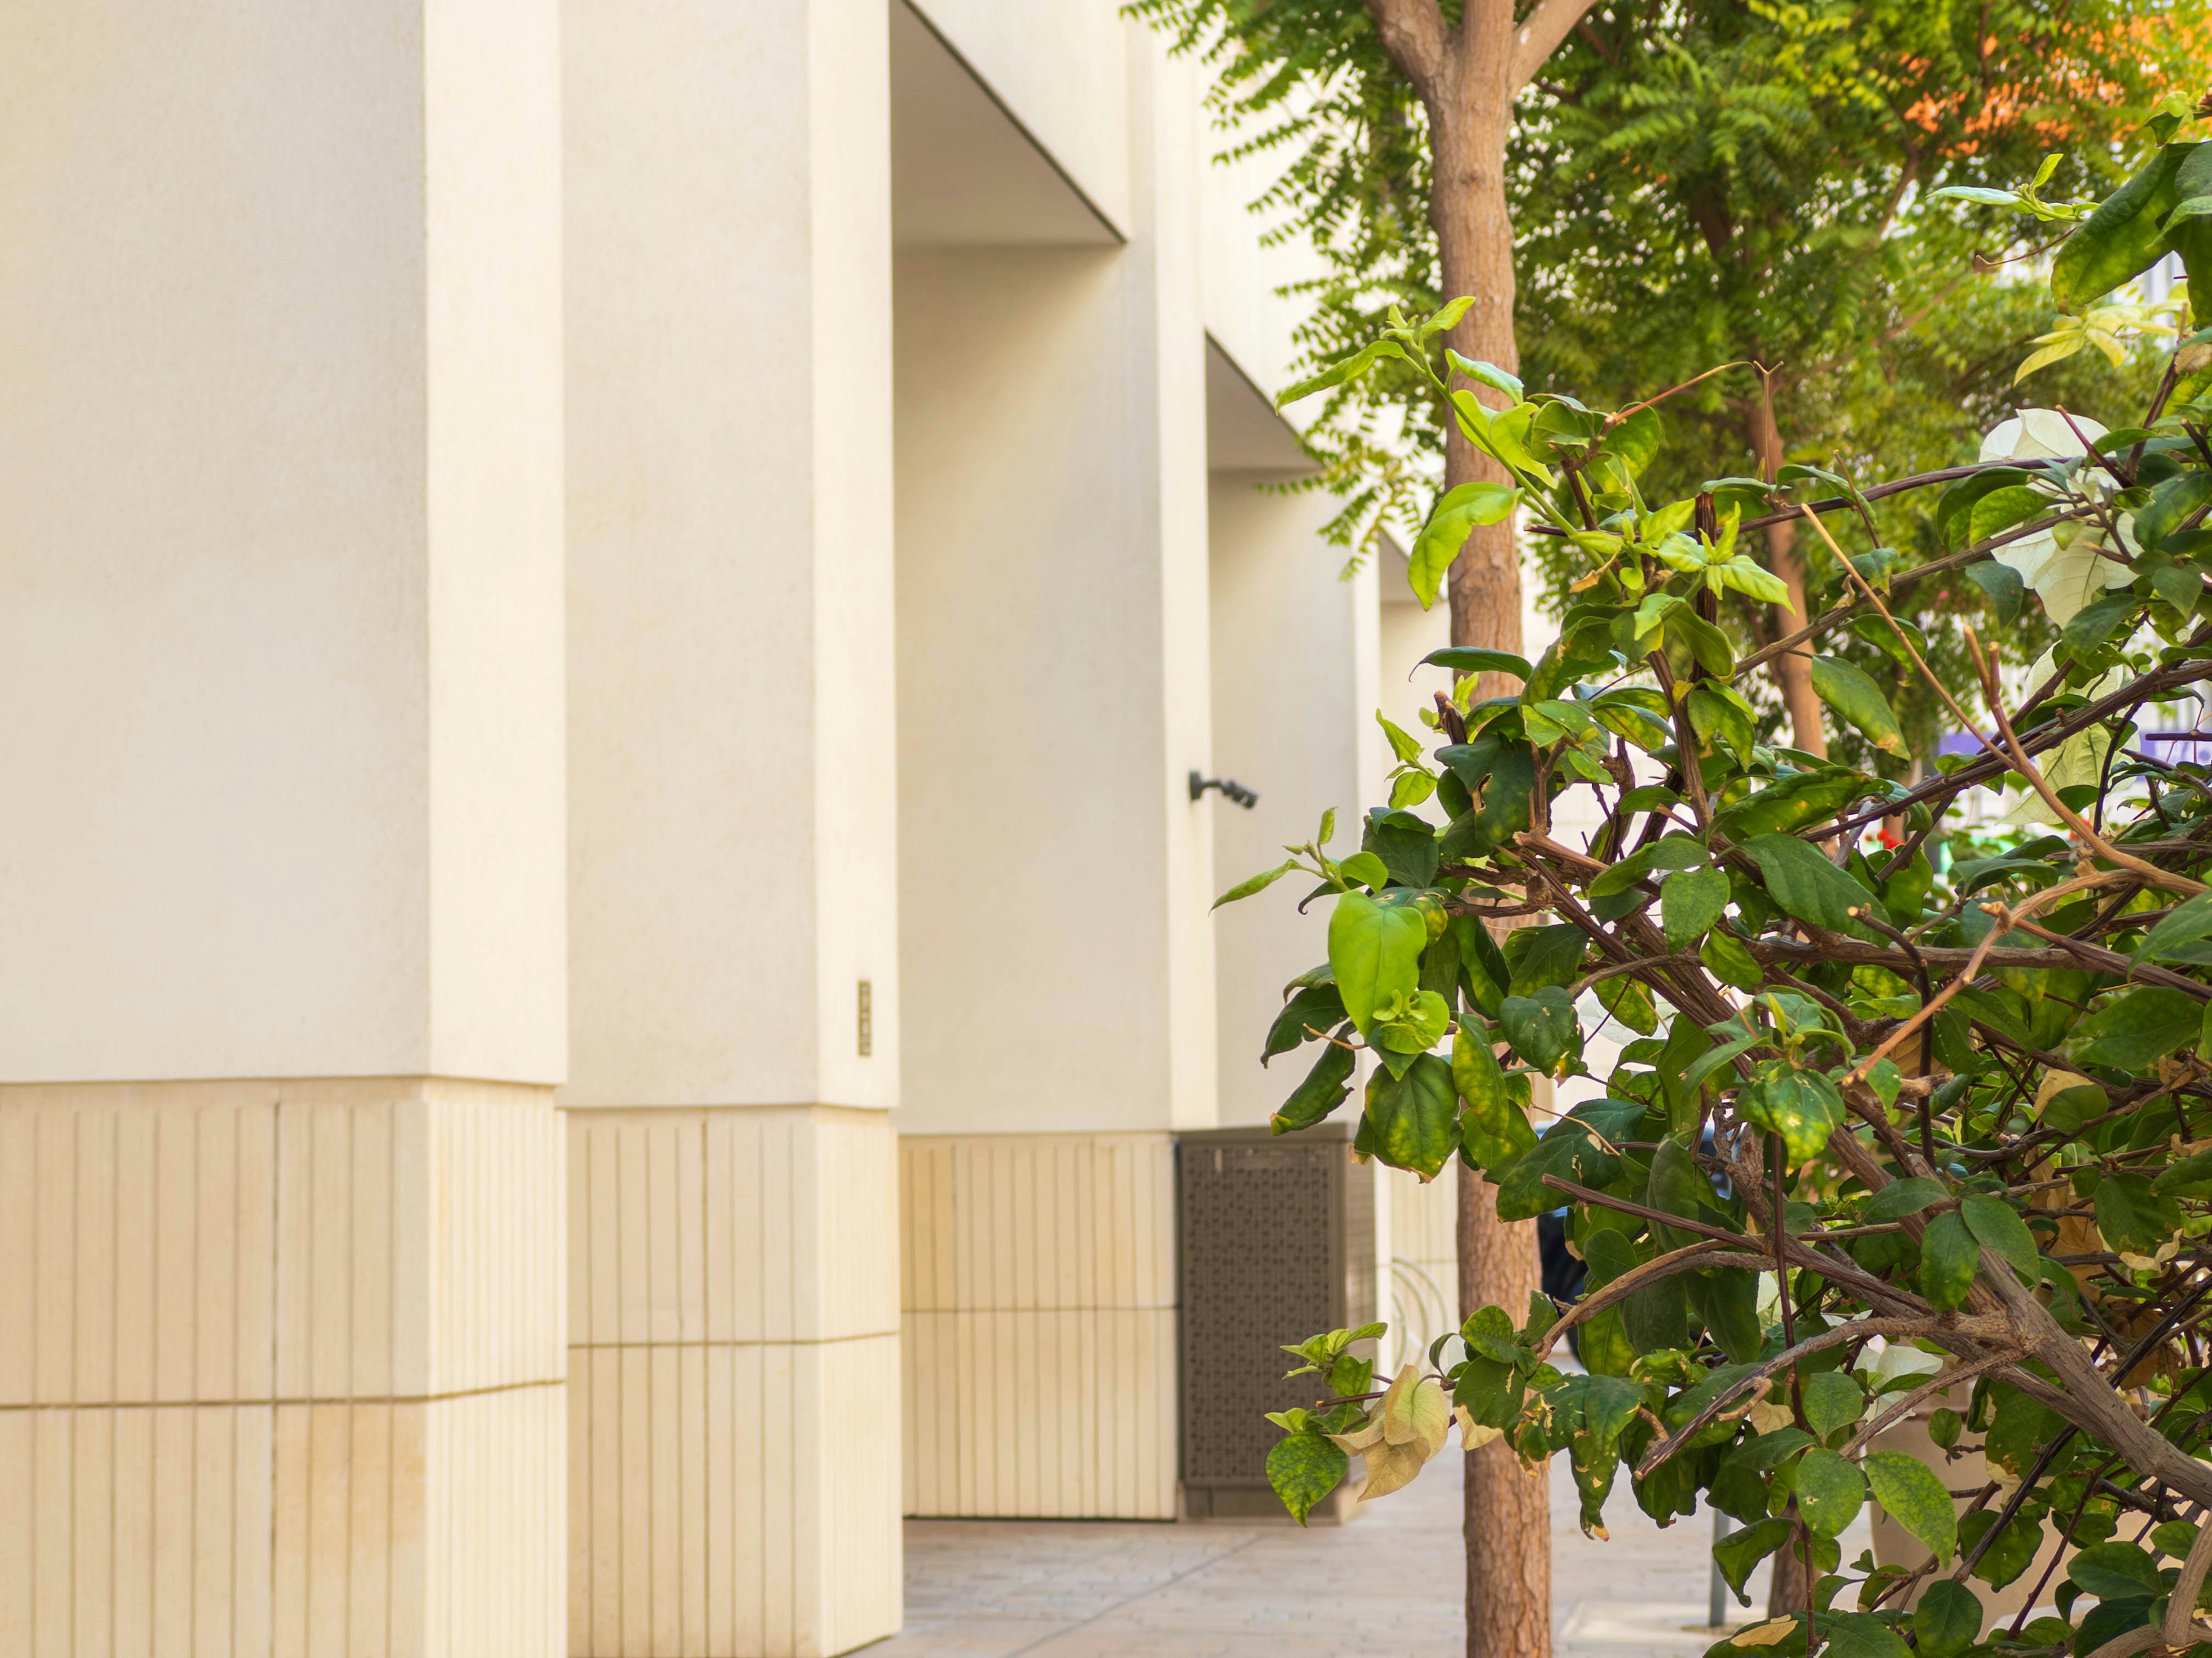
[[[1469,7],[1473,13],[1475,9]],[[1504,15],[1502,9],[1495,15]],[[1504,150],[1513,88],[1511,15],[1498,40],[1467,40],[1458,77],[1429,104],[1436,186],[1429,203],[1444,298],[1473,296],[1451,347],[1475,363],[1520,369],[1513,340],[1513,221]],[[1469,33],[1478,27],[1469,18]],[[1493,391],[1478,393],[1502,402]],[[1444,486],[1511,482],[1504,466],[1444,424]],[[1513,520],[1478,528],[1451,566],[1451,643],[1522,650],[1520,548]],[[1482,674],[1478,696],[1511,696],[1511,674]],[[1460,1315],[1504,1307],[1520,1322],[1542,1282],[1535,1222],[1500,1220],[1498,1189],[1460,1169]],[[1467,1658],[1551,1658],[1551,1479],[1526,1472],[1504,1439],[1467,1452]]]

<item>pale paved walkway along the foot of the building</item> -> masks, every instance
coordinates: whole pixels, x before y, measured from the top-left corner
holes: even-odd
[[[1624,1479],[1610,1543],[1553,1459],[1562,1658],[1699,1658],[1712,1523],[1659,1530]],[[1845,1534],[1845,1559],[1867,1545]],[[1765,1605],[1765,1570],[1752,1578]],[[1741,1614],[1745,1620],[1752,1614]],[[907,1627],[869,1658],[1460,1658],[1460,1477],[1444,1455],[1349,1525],[907,1521]]]

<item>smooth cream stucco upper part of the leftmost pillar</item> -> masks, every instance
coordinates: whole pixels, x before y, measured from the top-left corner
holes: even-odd
[[[0,1077],[564,1068],[531,2],[0,11]]]

